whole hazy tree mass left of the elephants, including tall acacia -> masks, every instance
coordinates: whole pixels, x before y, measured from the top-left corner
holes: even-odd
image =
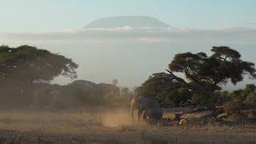
[[[47,50],[0,46],[0,107],[128,105],[128,88],[82,80],[66,86],[49,84],[59,75],[77,78],[77,68],[70,58]]]

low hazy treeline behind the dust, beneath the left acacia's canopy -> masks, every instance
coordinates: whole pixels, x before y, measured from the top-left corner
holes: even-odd
[[[0,104],[5,107],[128,106],[132,94],[128,88],[112,84],[77,80],[68,85],[36,82],[30,87],[2,86]]]

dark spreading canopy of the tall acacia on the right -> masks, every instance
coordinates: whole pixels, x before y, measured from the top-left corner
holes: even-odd
[[[185,74],[190,83],[212,92],[220,90],[220,85],[228,80],[233,84],[241,82],[245,74],[255,78],[254,63],[242,61],[238,51],[228,46],[214,46],[211,51],[214,54],[209,57],[202,52],[176,54],[169,64],[170,74]]]

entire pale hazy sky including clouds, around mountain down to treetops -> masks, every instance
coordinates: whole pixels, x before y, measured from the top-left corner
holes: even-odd
[[[165,71],[175,54],[211,54],[212,46],[230,46],[256,63],[255,6],[255,0],[0,0],[0,45],[37,46],[72,58],[78,79],[140,86]],[[170,27],[85,28],[114,16],[150,16]],[[52,83],[70,82],[58,77]],[[223,87],[246,83],[255,80]]]

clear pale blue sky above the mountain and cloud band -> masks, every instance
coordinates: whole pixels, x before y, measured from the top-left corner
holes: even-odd
[[[256,27],[255,0],[0,0],[0,32],[79,29],[97,18],[142,15],[188,29]]]

